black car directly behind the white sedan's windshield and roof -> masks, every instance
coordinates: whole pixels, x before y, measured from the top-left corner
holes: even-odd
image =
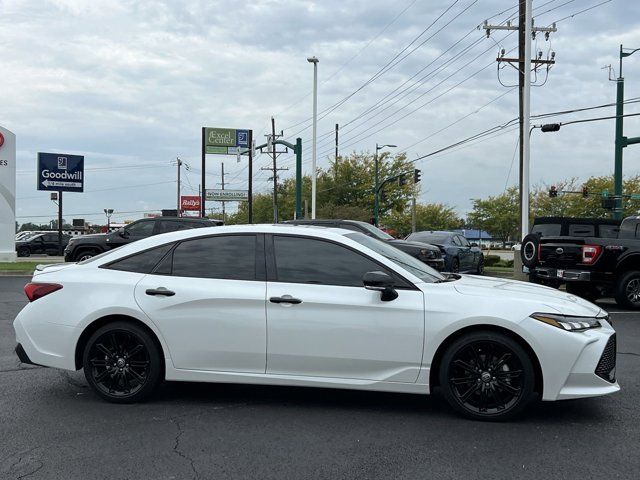
[[[356,232],[364,233],[378,240],[388,242],[396,247],[398,250],[402,250],[408,253],[412,257],[417,258],[423,263],[426,263],[432,268],[438,271],[444,270],[444,260],[438,247],[429,245],[422,242],[409,242],[406,240],[398,240],[393,238],[386,232],[383,232],[379,228],[371,225],[367,222],[359,222],[357,220],[336,220],[336,219],[322,219],[322,220],[289,220],[284,223],[293,225],[318,225],[321,227],[334,227],[344,228],[346,230],[354,230]]]

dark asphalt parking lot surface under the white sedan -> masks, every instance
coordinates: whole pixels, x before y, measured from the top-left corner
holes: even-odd
[[[167,383],[112,405],[82,372],[21,365],[28,277],[0,277],[0,478],[638,478],[640,313],[612,312],[616,395],[537,403],[511,423],[437,396]]]

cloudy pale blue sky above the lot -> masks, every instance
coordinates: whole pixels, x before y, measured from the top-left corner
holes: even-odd
[[[532,75],[533,115],[615,102],[612,65],[620,44],[640,47],[640,2],[534,0],[536,26],[557,22],[532,51],[556,64]],[[602,3],[602,4],[601,4]],[[601,4],[601,5],[598,5]],[[119,1],[0,0],[0,125],[17,135],[17,216],[47,222],[57,207],[36,190],[37,152],[85,156],[85,192],[64,196],[64,217],[104,223],[175,208],[200,183],[201,127],[253,129],[260,143],[271,116],[284,138],[303,140],[311,166],[313,65],[318,63],[318,166],[339,151],[395,144],[414,159],[518,115],[517,33],[478,29],[517,23],[517,0]],[[590,7],[595,7],[589,9]],[[511,52],[511,53],[509,53]],[[624,60],[625,98],[640,97],[640,53]],[[504,65],[504,64],[503,64]],[[506,85],[506,86],[503,86]],[[640,112],[629,104],[625,113]],[[614,115],[611,107],[545,119]],[[532,120],[532,124],[540,121]],[[419,201],[465,215],[473,198],[517,184],[517,127],[504,128],[416,162]],[[625,119],[625,135],[640,120]],[[531,183],[613,172],[614,121],[566,125],[531,137]],[[207,157],[207,188],[247,188],[247,162]],[[282,155],[281,177],[294,175]],[[173,165],[172,165],[173,163]],[[254,189],[268,192],[270,157],[255,160]],[[640,173],[640,149],[625,150],[625,175]],[[640,192],[634,192],[640,193]],[[219,204],[207,207],[219,209]],[[229,205],[228,205],[229,207]]]

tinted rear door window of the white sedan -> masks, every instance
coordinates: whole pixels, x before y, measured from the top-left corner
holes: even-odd
[[[177,277],[256,279],[256,236],[224,235],[180,243],[173,252]]]

